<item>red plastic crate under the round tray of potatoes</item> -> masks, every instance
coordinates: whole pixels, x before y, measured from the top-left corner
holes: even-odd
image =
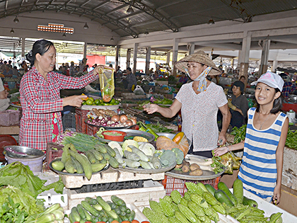
[[[182,180],[180,178],[173,178],[171,176],[165,176],[164,180],[161,181],[161,183],[164,186],[164,189],[166,190],[166,195],[170,195],[170,193],[173,190],[177,190],[183,196],[187,192],[187,187],[185,185],[186,182],[192,182],[192,183],[200,182],[203,184],[210,184],[216,190],[218,190],[218,183],[220,181],[220,178],[221,176],[218,176],[217,178],[210,179],[210,180],[204,180],[204,181],[190,181],[190,180]]]

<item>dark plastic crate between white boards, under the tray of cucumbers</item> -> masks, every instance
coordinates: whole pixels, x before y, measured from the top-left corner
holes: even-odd
[[[123,182],[112,182],[112,183],[97,183],[90,185],[83,185],[81,188],[74,188],[76,193],[91,193],[106,190],[126,190],[134,188],[143,188],[144,181],[123,181]]]

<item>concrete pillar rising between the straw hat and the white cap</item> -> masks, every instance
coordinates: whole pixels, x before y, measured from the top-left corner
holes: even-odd
[[[251,42],[251,33],[245,32],[243,38],[243,47],[238,55],[238,64],[239,67],[239,76],[245,76],[245,86],[248,80],[248,61],[250,59],[250,42]]]

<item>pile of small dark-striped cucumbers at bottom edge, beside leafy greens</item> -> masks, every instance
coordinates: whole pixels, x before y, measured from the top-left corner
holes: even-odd
[[[130,210],[124,200],[115,195],[112,201],[105,201],[100,196],[96,198],[85,198],[76,207],[71,208],[68,215],[70,223],[74,222],[132,222],[135,217],[134,210]]]

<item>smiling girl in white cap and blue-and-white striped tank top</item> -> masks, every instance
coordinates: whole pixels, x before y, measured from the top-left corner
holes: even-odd
[[[228,151],[243,149],[243,162],[238,173],[243,187],[268,202],[279,203],[284,144],[289,128],[286,114],[280,111],[284,81],[278,74],[267,72],[251,85],[257,85],[257,107],[248,110],[245,141],[216,148],[214,154],[221,156]]]

